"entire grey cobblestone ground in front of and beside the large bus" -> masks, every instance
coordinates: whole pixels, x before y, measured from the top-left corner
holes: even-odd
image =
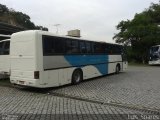
[[[132,66],[118,75],[45,90],[0,86],[0,118],[124,120],[126,114],[154,115],[160,109],[159,71]]]

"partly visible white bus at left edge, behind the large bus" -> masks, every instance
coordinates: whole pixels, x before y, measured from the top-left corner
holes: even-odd
[[[10,74],[10,39],[0,41],[0,78]]]

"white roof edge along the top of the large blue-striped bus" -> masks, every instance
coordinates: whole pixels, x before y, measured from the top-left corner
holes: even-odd
[[[42,35],[49,35],[49,36],[55,36],[55,37],[62,37],[62,38],[70,38],[70,39],[77,39],[77,40],[84,40],[84,41],[93,41],[93,42],[99,42],[99,43],[108,43],[108,42],[105,42],[105,41],[99,41],[99,40],[89,40],[89,39],[84,39],[84,38],[77,38],[77,37],[71,37],[71,36],[65,36],[65,35],[57,35],[57,34],[54,34],[54,33],[51,33],[51,32],[48,32],[48,31],[42,31],[42,30],[26,30],[26,31],[20,31],[20,32],[17,32],[17,33],[13,33],[12,36],[14,35],[18,35],[18,34],[42,34]],[[120,45],[120,44],[117,44],[117,43],[108,43],[108,44],[114,44],[114,45]]]

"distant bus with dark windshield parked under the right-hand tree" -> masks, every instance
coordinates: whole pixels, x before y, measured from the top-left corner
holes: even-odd
[[[149,65],[160,65],[160,45],[150,48]]]

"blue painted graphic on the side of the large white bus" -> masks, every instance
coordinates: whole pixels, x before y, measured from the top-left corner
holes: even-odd
[[[102,75],[108,73],[108,55],[66,55],[64,57],[72,66],[93,64]]]

